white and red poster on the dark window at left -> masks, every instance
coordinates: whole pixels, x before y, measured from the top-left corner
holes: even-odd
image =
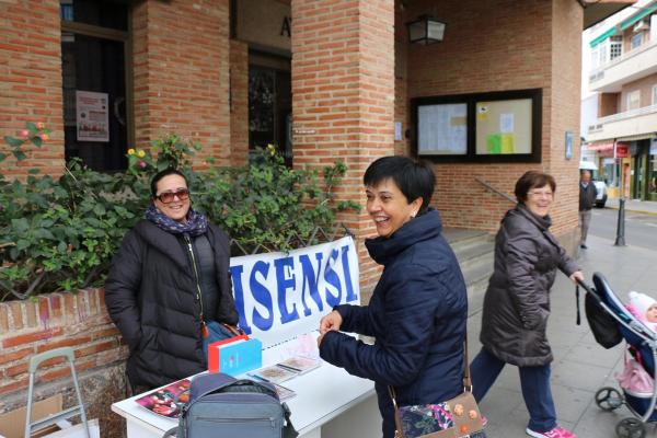
[[[110,141],[107,93],[76,91],[78,141]]]

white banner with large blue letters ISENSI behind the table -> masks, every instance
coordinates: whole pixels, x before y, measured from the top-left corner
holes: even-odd
[[[232,257],[240,326],[264,346],[309,333],[334,306],[360,302],[354,239]]]

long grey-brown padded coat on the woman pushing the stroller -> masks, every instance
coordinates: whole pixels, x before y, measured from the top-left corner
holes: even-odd
[[[505,362],[538,367],[553,359],[545,328],[556,268],[579,270],[548,229],[550,217],[523,204],[509,210],[495,240],[495,270],[484,298],[481,342]]]

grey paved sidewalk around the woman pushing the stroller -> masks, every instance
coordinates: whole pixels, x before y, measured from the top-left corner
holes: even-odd
[[[578,258],[588,283],[591,283],[593,272],[600,272],[624,301],[630,290],[657,297],[657,249],[613,246],[612,240],[593,235],[589,237],[588,244],[589,249]],[[552,288],[548,338],[555,358],[552,364],[552,392],[558,424],[573,430],[578,438],[614,438],[618,422],[631,416],[630,412],[625,406],[603,412],[593,397],[602,387],[618,389],[613,374],[622,369],[625,344],[606,350],[595,342],[584,314],[583,297],[581,325],[576,325],[574,292],[575,286],[563,274],[557,274]],[[470,360],[481,348],[480,328],[481,309],[471,309],[468,321]],[[516,367],[505,367],[481,403],[481,410],[488,417],[488,438],[527,437],[525,428],[529,416]],[[657,437],[653,425],[647,426],[646,437]]]

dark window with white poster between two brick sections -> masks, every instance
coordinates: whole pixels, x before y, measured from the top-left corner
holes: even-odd
[[[125,4],[61,0],[65,152],[94,170],[127,165]]]

